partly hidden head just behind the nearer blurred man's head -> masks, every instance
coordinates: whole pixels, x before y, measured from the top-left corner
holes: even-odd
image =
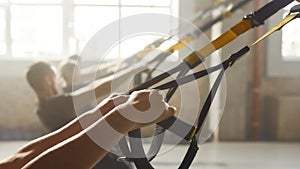
[[[64,63],[60,68],[60,73],[66,82],[66,86],[72,86],[76,64],[76,61],[68,61]]]

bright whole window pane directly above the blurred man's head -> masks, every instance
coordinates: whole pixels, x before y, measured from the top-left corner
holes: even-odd
[[[62,52],[60,6],[11,7],[11,49],[14,58],[54,58]]]

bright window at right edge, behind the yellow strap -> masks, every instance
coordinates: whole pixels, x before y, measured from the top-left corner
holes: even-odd
[[[268,27],[271,29],[285,17],[289,10],[298,2],[291,3],[284,10],[270,18]],[[295,19],[281,31],[274,33],[267,42],[267,75],[271,77],[300,76],[300,20]]]

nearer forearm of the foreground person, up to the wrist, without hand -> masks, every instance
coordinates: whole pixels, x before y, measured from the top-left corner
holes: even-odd
[[[58,144],[28,163],[24,169],[91,168],[121,139],[131,125],[122,124],[122,115],[112,111],[89,128]],[[112,120],[113,119],[113,120]],[[112,129],[114,126],[116,130]],[[101,137],[100,137],[101,136]],[[57,160],[57,161],[54,161]]]

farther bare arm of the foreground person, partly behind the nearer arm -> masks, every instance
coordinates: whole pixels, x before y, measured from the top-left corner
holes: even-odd
[[[61,129],[31,141],[22,147],[15,155],[0,162],[0,168],[21,168],[50,147],[80,133],[112,110],[115,104],[124,103],[127,98],[127,96],[112,95],[100,103],[95,109],[79,116]]]

